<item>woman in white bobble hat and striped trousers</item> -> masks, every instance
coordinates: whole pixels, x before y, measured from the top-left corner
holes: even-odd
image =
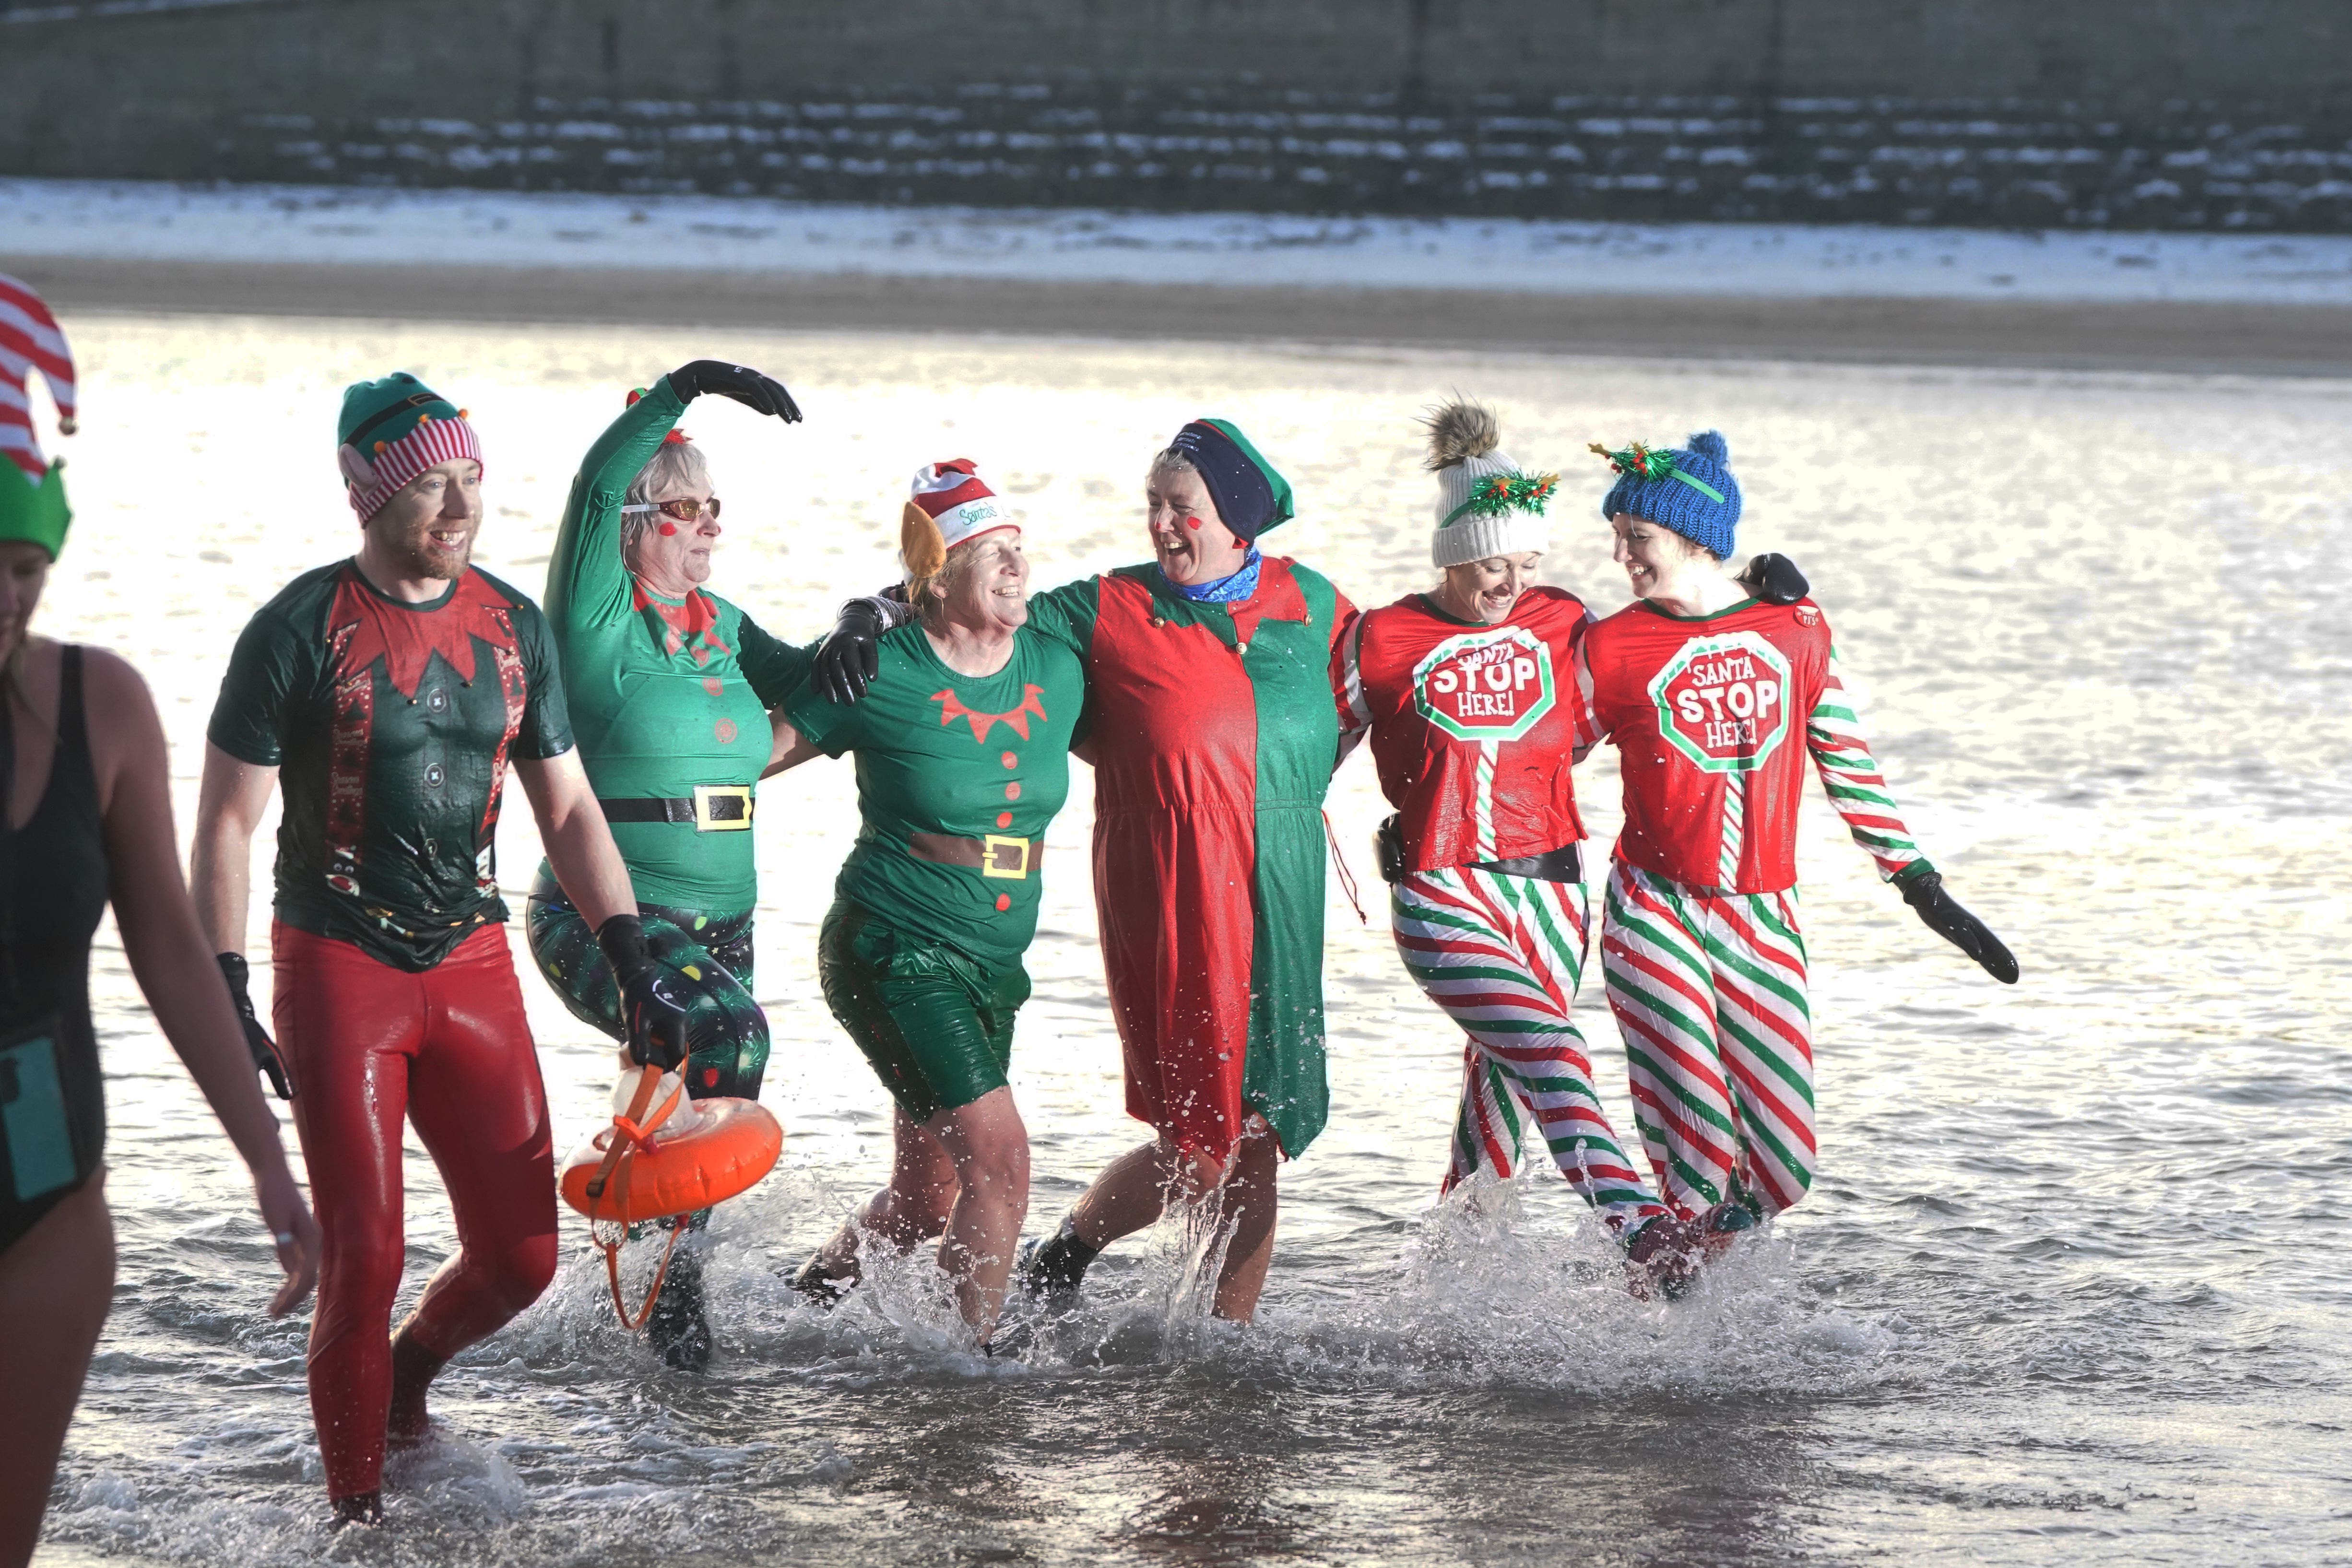
[[[1684,1251],[1679,1222],[1609,1126],[1569,1011],[1588,896],[1569,764],[1588,729],[1576,646],[1592,614],[1538,588],[1557,475],[1498,449],[1496,418],[1449,402],[1425,421],[1437,473],[1428,592],[1367,611],[1341,642],[1341,724],[1371,736],[1397,952],[1463,1027],[1463,1093],[1444,1187],[1508,1178],[1524,1119],[1628,1246],[1637,1286]]]

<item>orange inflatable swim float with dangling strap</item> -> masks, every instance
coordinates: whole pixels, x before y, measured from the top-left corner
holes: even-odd
[[[661,1131],[687,1100],[684,1081],[673,1074],[668,1098],[647,1114],[661,1081],[661,1070],[644,1067],[628,1110],[616,1112],[609,1128],[572,1150],[560,1175],[564,1201],[588,1215],[588,1232],[604,1253],[612,1309],[630,1331],[644,1328],[652,1316],[661,1284],[670,1274],[677,1237],[687,1227],[684,1222],[670,1227],[654,1284],[635,1314],[621,1298],[621,1241],[628,1239],[628,1227],[689,1215],[739,1197],[774,1171],[783,1152],[783,1128],[755,1100],[696,1100],[689,1110],[691,1126],[663,1138]],[[619,1227],[619,1237],[607,1241],[597,1234],[600,1225]]]

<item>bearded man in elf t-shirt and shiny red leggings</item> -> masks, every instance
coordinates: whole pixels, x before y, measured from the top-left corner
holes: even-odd
[[[623,976],[630,1058],[675,1067],[684,1018],[572,750],[548,623],[468,567],[482,447],[466,411],[409,374],[353,386],[336,456],[360,552],[294,578],[238,637],[207,731],[195,900],[310,1171],[327,1495],[339,1519],[376,1521],[386,1441],[426,1436],[433,1375],[555,1274],[548,1100],[492,849],[508,759]],[[273,1044],[245,990],[245,907],[280,776]],[[459,1251],[386,1342],[402,1114],[449,1187]]]

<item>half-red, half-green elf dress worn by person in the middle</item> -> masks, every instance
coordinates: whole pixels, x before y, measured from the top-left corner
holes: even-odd
[[[1298,1157],[1329,1117],[1324,790],[1331,651],[1355,607],[1268,555],[1249,597],[1120,567],[1030,599],[1087,668],[1094,905],[1127,1112],[1225,1157],[1249,1112]]]

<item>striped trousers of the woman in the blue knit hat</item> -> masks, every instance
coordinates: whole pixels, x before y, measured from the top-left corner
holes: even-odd
[[[1813,1185],[1813,1013],[1797,891],[1715,893],[1611,863],[1602,976],[1658,1190],[1691,1218]]]

